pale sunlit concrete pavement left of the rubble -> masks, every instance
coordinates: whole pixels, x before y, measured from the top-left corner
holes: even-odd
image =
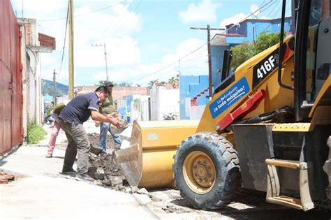
[[[87,131],[98,132],[91,125],[87,123]],[[45,158],[48,137],[40,145],[19,147],[0,161],[1,170],[16,175],[13,182],[0,185],[1,219],[159,219],[164,214],[146,206],[151,203],[147,195],[112,191],[61,175],[65,151],[55,149],[52,158]]]

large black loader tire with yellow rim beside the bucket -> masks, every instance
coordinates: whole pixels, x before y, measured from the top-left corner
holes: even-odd
[[[182,142],[174,158],[175,186],[194,208],[216,210],[233,201],[241,184],[240,166],[226,138],[196,133]]]

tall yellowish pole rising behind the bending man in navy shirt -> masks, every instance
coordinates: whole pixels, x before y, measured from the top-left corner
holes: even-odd
[[[73,0],[69,0],[69,99],[73,99]]]

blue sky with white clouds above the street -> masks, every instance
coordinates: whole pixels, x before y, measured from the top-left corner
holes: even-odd
[[[17,17],[35,18],[39,33],[56,38],[56,50],[41,54],[41,78],[52,80],[55,70],[57,82],[68,85],[68,0],[11,3]],[[113,82],[144,86],[151,80],[167,82],[179,73],[207,75],[207,31],[190,27],[223,28],[247,16],[281,15],[279,0],[73,0],[73,4],[75,86],[106,79],[103,45]],[[217,33],[223,31],[211,31],[211,36]]]

